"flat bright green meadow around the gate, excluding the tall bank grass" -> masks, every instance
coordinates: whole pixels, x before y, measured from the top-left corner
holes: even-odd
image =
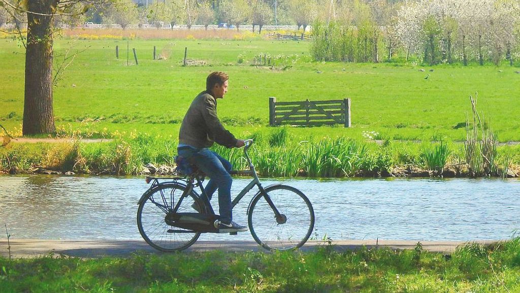
[[[116,45],[120,59],[115,58]],[[271,96],[278,101],[349,97],[351,129],[297,128],[292,132],[301,139],[308,135],[361,138],[363,131],[375,131],[383,139],[462,141],[466,114],[471,113],[469,96],[478,92],[477,108],[491,121],[499,141],[520,141],[520,74],[514,72],[518,68],[312,62],[309,43],[295,41],[130,40],[128,45],[130,66],[126,66],[127,41],[56,40],[56,62],[71,46],[71,52],[86,49],[55,88],[59,127],[95,136],[106,128],[106,133],[137,130],[175,137],[178,122],[203,90],[206,75],[219,70],[230,74],[230,90],[219,101],[219,116],[239,136],[251,132],[251,124],[255,128],[268,124]],[[158,55],[170,52],[170,58],[152,60],[153,46]],[[205,65],[182,67],[185,47],[189,59],[203,60]],[[138,66],[132,48],[136,48]],[[15,41],[0,39],[0,123],[9,131],[19,129],[23,114],[21,53]],[[274,69],[250,66],[259,53],[272,57]],[[424,79],[426,74],[430,74],[428,79]],[[89,119],[100,122],[87,123]]]

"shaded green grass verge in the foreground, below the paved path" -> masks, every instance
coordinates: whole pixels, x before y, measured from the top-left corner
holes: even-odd
[[[0,259],[2,292],[518,292],[520,238],[451,256],[362,248],[334,252],[135,254]]]

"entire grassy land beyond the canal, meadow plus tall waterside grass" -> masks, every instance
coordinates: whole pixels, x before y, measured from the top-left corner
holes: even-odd
[[[115,46],[119,46],[119,59]],[[127,66],[127,46],[130,52],[136,48],[139,65],[130,53]],[[158,56],[167,59],[153,60],[153,46]],[[0,148],[0,169],[28,170],[36,164],[79,173],[138,174],[149,162],[171,164],[180,121],[212,71],[230,75],[229,93],[218,101],[219,117],[237,137],[256,139],[254,161],[262,176],[379,176],[391,174],[399,165],[424,170],[460,165],[466,161],[460,142],[466,139],[467,116],[472,120],[469,96],[475,97],[475,92],[477,109],[498,141],[520,141],[518,68],[322,63],[311,61],[309,46],[259,37],[245,41],[58,39],[57,64],[69,48],[69,57],[81,53],[55,87],[56,135],[116,139],[94,145],[11,144]],[[188,59],[203,65],[183,67],[185,48]],[[0,124],[14,136],[21,136],[22,52],[15,41],[0,39],[4,69]],[[252,66],[260,54],[274,65]],[[352,128],[271,128],[269,97],[277,101],[348,97]],[[372,139],[385,143],[378,146],[370,143]],[[439,152],[438,143],[432,141],[448,143],[447,151]],[[216,149],[235,166],[243,163],[240,152]],[[508,168],[520,171],[518,145],[500,147],[493,156],[494,171],[477,174],[504,176]],[[465,176],[471,173],[467,170],[457,173]]]

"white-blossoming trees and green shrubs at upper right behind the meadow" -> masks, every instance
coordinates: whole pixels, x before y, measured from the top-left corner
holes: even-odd
[[[520,2],[353,1],[341,15],[317,18],[311,53],[318,61],[437,63],[520,59]],[[374,4],[379,7],[374,8]],[[375,5],[377,6],[377,5]]]

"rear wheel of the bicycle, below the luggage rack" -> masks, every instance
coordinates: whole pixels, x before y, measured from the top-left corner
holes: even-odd
[[[153,248],[166,252],[183,250],[199,238],[200,232],[170,226],[165,221],[166,214],[172,212],[180,200],[177,212],[196,213],[193,207],[202,210],[202,203],[193,193],[181,198],[184,190],[186,187],[179,184],[164,184],[150,190],[140,203],[137,210],[139,233]]]

